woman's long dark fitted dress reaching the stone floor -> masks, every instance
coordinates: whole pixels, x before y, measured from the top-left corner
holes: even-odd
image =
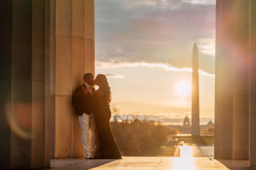
[[[121,159],[119,148],[111,132],[109,120],[111,111],[109,108],[109,95],[104,88],[95,91],[94,119],[100,143],[101,159]]]

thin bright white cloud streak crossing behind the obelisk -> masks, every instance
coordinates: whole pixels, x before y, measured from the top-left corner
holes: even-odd
[[[178,68],[178,67],[170,66],[169,64],[146,63],[146,62],[137,62],[137,63],[95,62],[95,67],[96,67],[96,69],[110,69],[110,68],[117,68],[117,67],[150,67],[150,68],[158,67],[158,68],[162,68],[166,71],[177,71],[177,72],[192,72],[193,71],[191,67]],[[215,74],[207,73],[203,70],[198,70],[198,73],[201,74],[201,75],[208,76],[208,77],[215,77]]]

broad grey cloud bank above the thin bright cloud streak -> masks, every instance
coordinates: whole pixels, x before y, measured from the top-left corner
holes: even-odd
[[[95,60],[190,67],[194,42],[201,70],[214,73],[215,1],[97,0]]]

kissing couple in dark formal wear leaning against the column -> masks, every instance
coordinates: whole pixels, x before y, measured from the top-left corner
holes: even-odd
[[[99,86],[99,89],[96,91],[92,73],[84,74],[83,79],[84,84],[75,90],[72,103],[82,129],[85,158],[121,159],[109,125],[111,95],[107,78],[103,74],[97,75],[95,85]],[[92,132],[90,147],[89,129]]]

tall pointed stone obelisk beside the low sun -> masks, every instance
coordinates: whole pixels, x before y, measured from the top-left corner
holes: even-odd
[[[198,49],[196,43],[193,47],[192,57],[192,135],[200,135],[199,125],[199,83],[198,83]]]

